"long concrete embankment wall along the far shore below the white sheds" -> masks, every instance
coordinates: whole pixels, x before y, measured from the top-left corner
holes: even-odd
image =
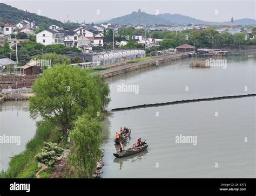
[[[159,58],[155,58],[155,59],[147,60],[147,61],[142,61],[142,62],[136,62],[134,64],[115,67],[115,68],[107,69],[107,70],[96,72],[96,73],[102,75],[103,78],[109,78],[109,77],[112,77],[114,75],[118,75],[118,74],[122,74],[122,73],[126,73],[126,72],[131,72],[131,71],[134,71],[136,69],[141,69],[141,68],[149,67],[149,66],[152,66],[152,65],[163,64],[164,62],[169,62],[169,61],[173,61],[173,60],[187,58],[187,57],[189,57],[190,53],[193,53],[193,52],[184,52],[184,53],[167,55],[167,56],[164,56],[164,57],[159,57]]]

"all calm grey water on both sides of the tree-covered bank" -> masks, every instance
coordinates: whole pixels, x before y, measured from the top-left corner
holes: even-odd
[[[107,79],[109,109],[203,97],[255,93],[256,54],[229,57],[227,68],[190,68],[194,59],[152,66]],[[135,85],[136,92],[119,86]],[[21,136],[21,145],[0,144],[0,170],[21,153],[36,131],[27,101],[0,104],[0,135]],[[147,151],[115,158],[120,127],[131,127]],[[113,112],[104,121],[103,178],[255,178],[255,97],[184,103]],[[176,136],[197,136],[197,143],[176,143]]]

